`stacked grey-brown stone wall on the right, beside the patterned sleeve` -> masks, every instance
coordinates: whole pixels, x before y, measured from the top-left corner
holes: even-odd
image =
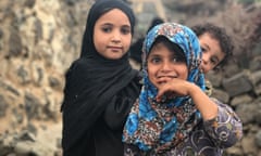
[[[259,156],[261,154],[261,57],[252,60],[251,69],[229,65],[225,73],[210,73],[213,96],[231,105],[240,117],[244,136],[226,151],[233,156]]]

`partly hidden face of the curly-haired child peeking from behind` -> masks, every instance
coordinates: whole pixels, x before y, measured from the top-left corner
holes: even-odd
[[[225,57],[225,53],[221,50],[220,42],[208,32],[199,37],[199,42],[203,52],[200,68],[207,74],[219,65]]]

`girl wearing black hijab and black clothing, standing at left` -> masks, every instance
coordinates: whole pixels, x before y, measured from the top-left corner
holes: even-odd
[[[103,15],[112,10],[115,12],[115,9],[125,14],[129,22],[129,28],[121,27],[120,34],[130,34],[130,37],[125,40],[128,46],[121,49],[122,56],[104,56],[96,40],[103,40],[105,37],[98,36],[95,28]],[[113,30],[113,23],[108,21],[109,24],[101,27],[104,32]],[[130,67],[127,53],[134,26],[134,13],[123,1],[98,0],[90,9],[80,57],[73,62],[65,77],[64,101],[61,107],[64,156],[123,156],[123,126],[140,90],[138,72]],[[121,39],[117,42],[121,42]],[[113,55],[119,51],[116,47],[111,48]]]

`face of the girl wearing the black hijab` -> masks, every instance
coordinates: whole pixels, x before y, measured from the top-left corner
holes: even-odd
[[[132,28],[127,15],[113,9],[97,20],[94,43],[98,53],[110,60],[121,58],[132,42]]]

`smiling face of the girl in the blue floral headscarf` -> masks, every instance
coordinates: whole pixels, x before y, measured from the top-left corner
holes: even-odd
[[[175,52],[170,51],[163,43],[157,43],[152,47],[147,65],[149,80],[156,88],[173,78],[186,80],[188,76],[186,62],[177,58]]]

